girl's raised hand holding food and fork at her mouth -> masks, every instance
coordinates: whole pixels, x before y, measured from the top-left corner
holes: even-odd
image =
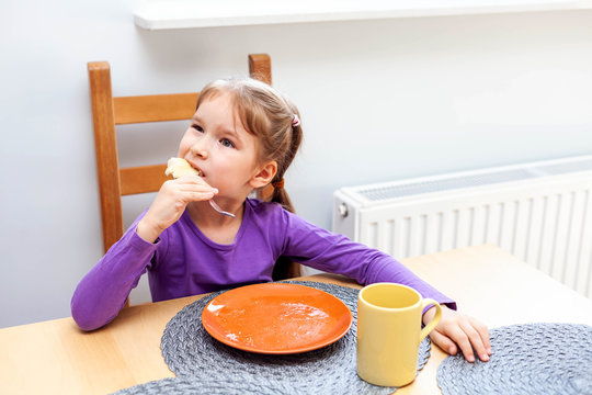
[[[139,221],[136,233],[148,242],[155,242],[162,230],[174,224],[187,203],[214,198],[218,190],[198,176],[182,176],[166,181],[158,191],[146,215]]]

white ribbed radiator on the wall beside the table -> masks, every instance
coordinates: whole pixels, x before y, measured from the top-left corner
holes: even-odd
[[[396,258],[491,242],[592,297],[592,156],[342,188],[333,232]]]

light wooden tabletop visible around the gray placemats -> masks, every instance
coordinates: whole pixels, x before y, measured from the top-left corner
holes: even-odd
[[[490,328],[534,321],[592,325],[592,301],[491,245],[403,263]],[[358,287],[329,274],[303,280]],[[106,394],[174,376],[162,359],[160,338],[167,323],[197,298],[133,306],[93,332],[80,331],[71,318],[0,329],[0,393]],[[435,374],[445,357],[432,347],[417,380],[397,394],[440,394]]]

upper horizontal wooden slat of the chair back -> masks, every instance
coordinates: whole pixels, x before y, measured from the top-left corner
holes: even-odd
[[[113,98],[115,124],[191,120],[200,93]]]

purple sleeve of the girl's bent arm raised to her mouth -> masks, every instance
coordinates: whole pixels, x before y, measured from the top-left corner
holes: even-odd
[[[150,264],[160,240],[150,244],[136,234],[140,218],[76,287],[70,308],[81,329],[93,330],[113,320]]]

